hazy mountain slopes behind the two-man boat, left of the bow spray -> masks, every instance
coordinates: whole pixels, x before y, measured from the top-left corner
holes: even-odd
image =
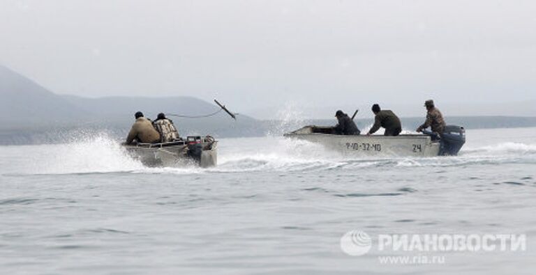
[[[214,113],[219,109],[216,104],[195,97],[87,98],[57,95],[1,65],[0,97],[0,139],[10,142],[22,139],[20,143],[33,142],[31,140],[35,133],[61,132],[77,128],[110,129],[119,136],[124,135],[130,129],[136,111],[142,111],[145,116],[154,119],[161,112],[168,113],[168,116],[171,113],[200,116]],[[238,116],[236,121],[223,112],[209,118],[169,117],[175,121],[183,135],[262,134],[256,127],[257,121],[248,116]],[[21,138],[21,136],[27,137]]]

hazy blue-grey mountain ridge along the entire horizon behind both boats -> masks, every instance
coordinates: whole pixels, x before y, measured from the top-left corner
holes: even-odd
[[[216,137],[281,135],[304,125],[334,125],[329,120],[255,120],[226,113],[209,118],[177,118],[172,113],[200,116],[218,107],[195,97],[100,97],[57,95],[35,81],[0,65],[0,144],[57,143],[70,140],[76,132],[107,132],[124,139],[136,111],[156,118],[160,112],[174,120],[181,136],[211,134]],[[232,108],[231,108],[232,109]],[[404,129],[415,129],[423,117],[401,118]],[[466,129],[493,127],[536,127],[535,117],[446,116],[447,123]],[[356,119],[364,130],[373,118]]]

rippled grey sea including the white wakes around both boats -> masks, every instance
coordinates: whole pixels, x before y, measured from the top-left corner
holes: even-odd
[[[0,147],[2,274],[534,274],[536,128],[468,132],[459,157],[356,159],[223,139],[217,168],[146,168],[105,135]],[[341,251],[349,230],[526,234],[527,250]]]

